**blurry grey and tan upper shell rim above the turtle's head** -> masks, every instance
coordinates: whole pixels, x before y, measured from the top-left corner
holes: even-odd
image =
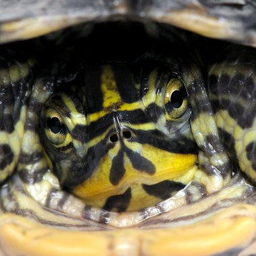
[[[210,38],[256,46],[255,1],[0,1],[0,42],[34,38],[84,22],[152,20]]]

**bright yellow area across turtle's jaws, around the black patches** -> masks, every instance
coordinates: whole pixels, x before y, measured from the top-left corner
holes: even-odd
[[[193,180],[196,170],[195,154],[173,154],[164,150],[159,150],[150,145],[144,145],[140,152],[141,156],[147,158],[154,164],[156,172],[148,174],[133,168],[130,159],[124,155],[125,174],[117,185],[110,183],[110,168],[119,147],[115,147],[108,152],[100,161],[98,168],[92,176],[78,185],[73,190],[73,194],[84,200],[88,205],[102,207],[106,199],[112,195],[121,195],[131,188],[131,201],[127,211],[141,210],[144,207],[156,205],[162,201],[160,197],[149,195],[141,187],[142,184],[154,185],[161,181],[177,181],[189,183]],[[154,152],[154,154],[152,154]]]

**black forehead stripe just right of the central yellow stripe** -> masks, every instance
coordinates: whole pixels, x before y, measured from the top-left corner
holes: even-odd
[[[138,100],[131,71],[125,65],[113,65],[117,88],[123,102],[133,103]]]

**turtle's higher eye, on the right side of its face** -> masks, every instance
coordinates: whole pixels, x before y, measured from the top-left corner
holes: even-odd
[[[177,120],[183,116],[188,106],[187,90],[178,78],[172,78],[166,85],[164,112],[167,120]]]

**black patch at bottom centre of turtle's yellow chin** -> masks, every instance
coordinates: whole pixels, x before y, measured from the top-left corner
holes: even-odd
[[[131,188],[127,189],[121,195],[112,195],[108,197],[103,209],[106,211],[125,212],[131,201]]]

